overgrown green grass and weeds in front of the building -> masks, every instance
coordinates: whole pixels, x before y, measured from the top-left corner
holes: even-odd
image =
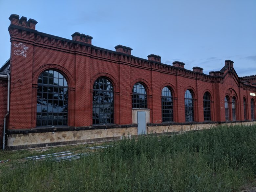
[[[226,192],[255,181],[256,126],[112,144],[79,160],[3,163],[0,190]]]

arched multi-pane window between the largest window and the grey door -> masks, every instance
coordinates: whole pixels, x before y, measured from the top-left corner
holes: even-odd
[[[114,91],[111,82],[99,77],[93,85],[93,124],[114,123]]]

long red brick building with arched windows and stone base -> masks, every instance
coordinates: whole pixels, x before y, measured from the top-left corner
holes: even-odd
[[[72,40],[38,32],[35,20],[16,14],[9,19],[11,58],[0,69],[0,139],[6,117],[10,148],[255,123],[256,78],[239,77],[233,61],[206,75],[179,61],[163,64],[159,55],[133,56],[126,46],[96,47],[93,37],[78,32]]]

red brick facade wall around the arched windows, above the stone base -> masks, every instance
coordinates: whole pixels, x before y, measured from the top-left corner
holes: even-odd
[[[61,72],[68,81],[68,125],[75,127],[92,125],[93,84],[100,76],[108,78],[113,84],[114,123],[121,125],[132,123],[132,87],[136,82],[143,84],[147,91],[151,123],[161,123],[161,90],[164,86],[172,90],[175,122],[185,122],[184,94],[187,89],[192,92],[194,119],[199,122],[204,121],[203,95],[206,91],[211,96],[212,121],[225,121],[226,95],[230,97],[230,102],[232,96],[236,97],[236,120],[244,120],[243,97],[250,102],[252,96],[249,92],[256,92],[256,87],[241,83],[230,68],[222,72],[222,76],[205,75],[201,71],[184,69],[184,63],[183,67],[176,64],[168,66],[160,60],[134,57],[130,53],[131,48],[129,52],[122,53],[95,47],[90,36],[90,43],[86,43],[80,37],[73,41],[37,32],[33,28],[37,23],[34,20],[31,28],[20,26],[15,19],[17,16],[11,18],[12,25],[9,27],[11,104],[8,129],[36,127],[37,79],[49,69]],[[76,33],[76,36],[79,34]],[[229,106],[231,113],[231,103]],[[247,109],[250,119],[250,105]],[[232,120],[231,114],[230,117]]]

